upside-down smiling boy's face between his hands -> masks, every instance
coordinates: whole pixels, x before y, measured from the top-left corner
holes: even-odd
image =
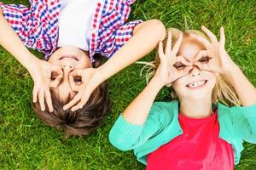
[[[62,80],[57,88],[52,88],[52,91],[57,99],[62,103],[67,103],[67,99],[73,99],[75,91],[72,90],[69,82],[69,73],[76,69],[85,69],[92,67],[90,59],[84,51],[75,47],[61,47],[49,57],[48,62],[52,65],[59,65],[63,71]],[[57,75],[52,76],[54,79]],[[79,85],[80,77],[74,77],[74,82]]]

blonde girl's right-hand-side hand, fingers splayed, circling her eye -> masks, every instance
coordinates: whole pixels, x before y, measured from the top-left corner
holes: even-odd
[[[191,34],[191,37],[194,37],[207,48],[207,50],[203,50],[197,55],[194,65],[197,65],[201,70],[217,72],[223,75],[229,73],[235,64],[224,47],[224,27],[220,28],[219,41],[212,31],[209,31],[205,26],[202,26],[201,29],[205,31],[211,42],[208,42],[203,37]],[[199,59],[203,59],[204,62],[199,61]]]

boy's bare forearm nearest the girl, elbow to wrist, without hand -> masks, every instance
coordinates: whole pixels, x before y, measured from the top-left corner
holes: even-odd
[[[148,20],[137,25],[133,31],[133,37],[98,68],[103,73],[102,79],[106,80],[112,77],[137,59],[141,59],[165,37],[166,28],[159,20]]]

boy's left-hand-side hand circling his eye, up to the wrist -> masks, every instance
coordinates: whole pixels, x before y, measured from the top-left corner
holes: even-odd
[[[44,99],[48,105],[49,111],[53,111],[51,95],[49,88],[56,88],[61,82],[63,75],[61,66],[51,65],[49,62],[35,59],[32,66],[28,69],[34,81],[33,102],[39,100],[41,110],[45,110]],[[58,74],[55,80],[51,79],[52,73]]]

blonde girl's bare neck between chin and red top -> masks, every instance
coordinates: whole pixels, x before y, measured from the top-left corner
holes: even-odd
[[[180,99],[180,112],[192,118],[211,116],[212,99]]]

